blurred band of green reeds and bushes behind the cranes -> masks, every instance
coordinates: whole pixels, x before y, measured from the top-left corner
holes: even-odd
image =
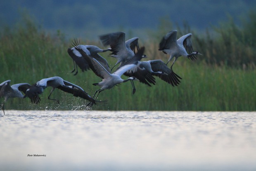
[[[193,33],[185,23],[178,28],[178,36],[192,33],[194,50],[204,54],[196,61],[180,57],[173,66],[175,73],[183,78],[178,87],[156,78],[156,85],[149,87],[135,82],[136,93],[132,95],[129,82],[103,91],[99,99],[108,103],[98,103],[92,110],[196,110],[196,111],[255,111],[256,110],[256,70],[255,70],[255,19],[256,13],[249,14],[250,19],[238,27],[230,22],[220,27],[206,30],[205,33]],[[163,19],[159,29],[150,34],[150,40],[140,40],[140,46],[146,47],[149,59],[167,61],[166,54],[158,51],[161,37],[173,30],[172,23]],[[76,38],[76,37],[75,37]],[[130,37],[126,37],[127,39]],[[82,44],[102,45],[97,41],[81,40]],[[100,82],[92,71],[81,72],[73,76],[73,61],[67,53],[71,40],[66,40],[58,30],[47,33],[33,19],[24,15],[22,22],[14,28],[6,27],[0,33],[0,73],[1,80],[11,80],[11,84],[28,82],[33,84],[46,77],[60,76],[64,80],[82,87],[93,95],[100,87],[92,83]],[[108,53],[102,53],[113,66],[116,62]],[[123,77],[125,78],[125,77]],[[58,98],[61,105],[50,101],[47,96],[51,88],[45,89],[38,105],[30,103],[28,98],[9,99],[7,110],[85,110],[85,101],[56,89],[52,98]]]

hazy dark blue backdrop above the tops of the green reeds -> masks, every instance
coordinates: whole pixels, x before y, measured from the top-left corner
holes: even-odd
[[[0,23],[15,23],[20,11],[26,9],[51,30],[156,29],[163,16],[173,23],[187,21],[193,29],[204,30],[228,21],[228,14],[240,23],[244,12],[255,8],[254,0],[8,0],[1,2]]]

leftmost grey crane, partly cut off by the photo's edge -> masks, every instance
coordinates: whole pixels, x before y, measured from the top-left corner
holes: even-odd
[[[13,84],[10,86],[11,80],[6,80],[0,84],[0,98],[4,98],[4,101],[2,103],[2,110],[5,114],[5,103],[9,98],[23,98],[23,94],[21,91],[25,94],[26,90],[31,87],[28,83],[19,83],[19,84]],[[30,96],[31,102],[33,103],[39,103],[40,98],[39,96]]]

